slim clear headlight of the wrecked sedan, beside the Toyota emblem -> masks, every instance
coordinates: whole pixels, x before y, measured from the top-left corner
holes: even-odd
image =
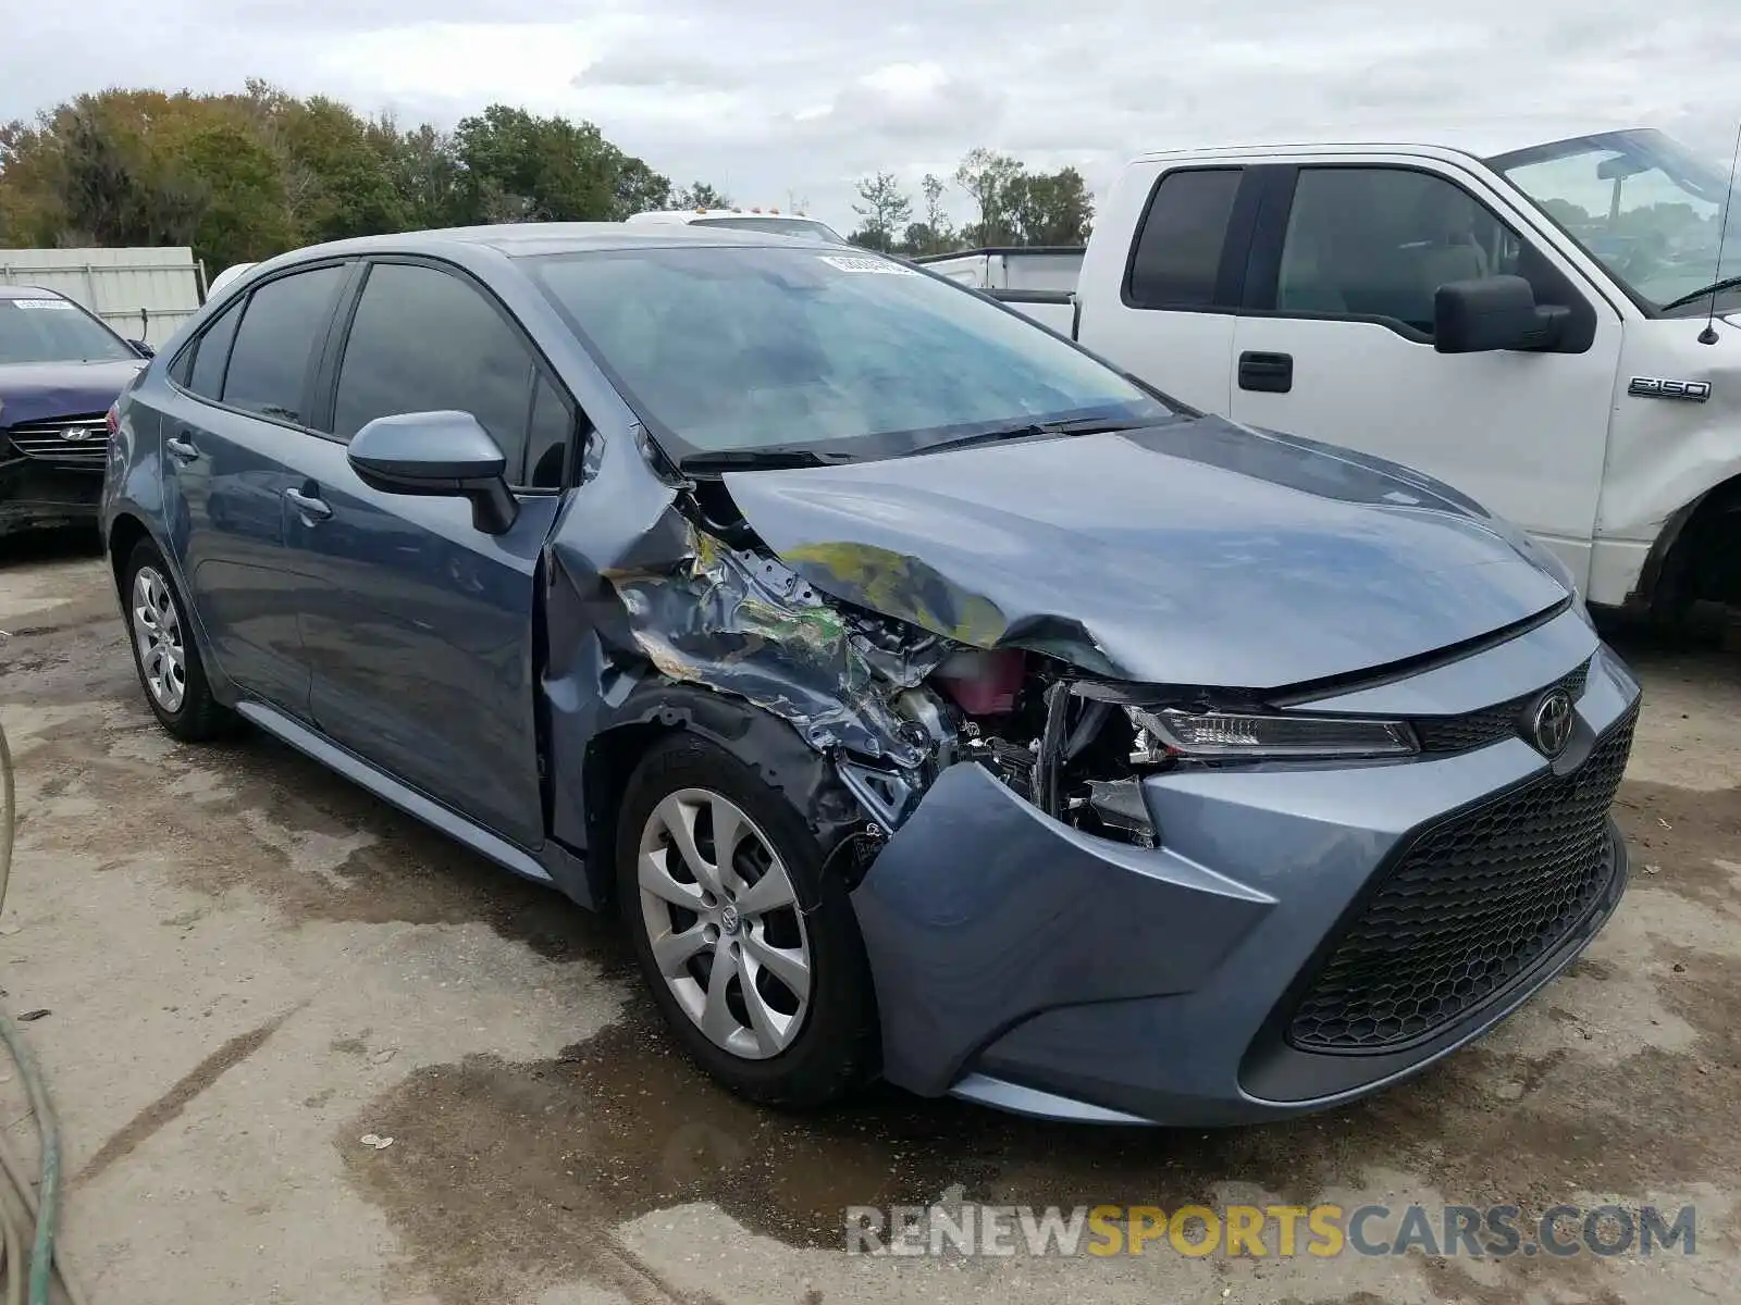
[[[1414,731],[1402,720],[1360,720],[1311,715],[1247,715],[1236,712],[1180,712],[1126,706],[1139,731],[1132,760],[1163,760],[1165,755],[1243,759],[1262,757],[1407,757],[1421,750]],[[1158,755],[1142,753],[1151,736]]]

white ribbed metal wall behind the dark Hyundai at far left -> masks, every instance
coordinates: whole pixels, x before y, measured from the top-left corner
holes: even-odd
[[[205,299],[205,268],[186,245],[0,249],[0,284],[64,294],[117,334],[153,348],[176,334]]]

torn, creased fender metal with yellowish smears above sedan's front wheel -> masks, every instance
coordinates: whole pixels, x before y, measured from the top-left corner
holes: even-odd
[[[634,642],[663,675],[736,694],[823,752],[907,769],[928,759],[924,729],[890,699],[944,658],[940,640],[902,656],[790,567],[684,525],[679,559],[604,571]]]

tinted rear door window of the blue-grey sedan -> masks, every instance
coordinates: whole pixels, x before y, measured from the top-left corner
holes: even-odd
[[[247,298],[230,348],[223,402],[277,421],[306,425],[303,395],[310,358],[326,338],[345,271],[336,264],[296,271],[266,282]]]

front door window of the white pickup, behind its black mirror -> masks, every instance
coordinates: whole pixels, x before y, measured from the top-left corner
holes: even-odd
[[[1454,280],[1516,275],[1522,240],[1450,181],[1402,167],[1307,167],[1294,188],[1276,310],[1433,332]]]

